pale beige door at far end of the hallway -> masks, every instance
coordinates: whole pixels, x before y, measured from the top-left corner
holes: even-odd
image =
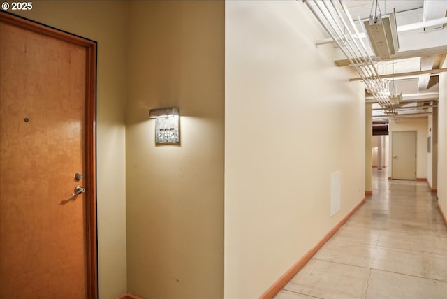
[[[416,131],[395,131],[392,142],[391,178],[416,180]]]

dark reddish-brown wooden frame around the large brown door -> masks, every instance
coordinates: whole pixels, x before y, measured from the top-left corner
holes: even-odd
[[[98,251],[96,228],[96,41],[19,17],[3,10],[0,22],[80,45],[87,50],[85,94],[85,233],[87,298],[98,298]]]

